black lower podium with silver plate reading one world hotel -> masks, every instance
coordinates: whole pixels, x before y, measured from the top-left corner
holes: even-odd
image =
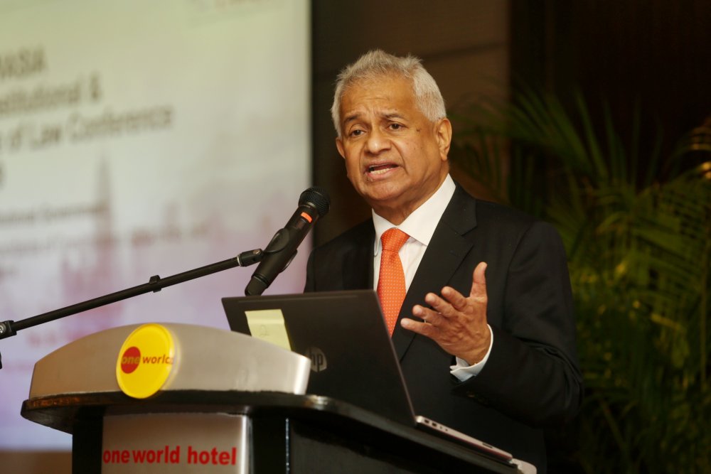
[[[73,473],[178,473],[180,465],[192,468],[185,472],[194,472],[195,465],[188,460],[199,463],[201,473],[518,472],[515,465],[314,395],[186,390],[137,400],[122,392],[75,394],[26,400],[21,413],[26,419],[73,434]],[[215,420],[219,424],[225,419],[236,420],[226,423],[227,434],[213,431]],[[241,428],[236,429],[237,425]],[[124,438],[141,430],[148,435],[137,436],[144,443],[136,445],[144,450],[140,470],[135,463],[115,462],[120,460],[115,456],[134,456],[132,451],[137,449],[129,443],[117,444],[117,429],[125,431]],[[149,446],[146,440],[151,439],[151,429],[174,431],[173,437],[155,439]],[[240,430],[242,444],[236,434]],[[195,439],[203,444],[198,446]],[[190,447],[192,457],[188,458]],[[232,447],[237,448],[234,464]],[[237,462],[240,454],[245,463]],[[147,462],[148,456],[152,463]],[[171,463],[178,459],[182,464]],[[129,470],[110,470],[117,467]],[[169,470],[161,470],[166,467]]]

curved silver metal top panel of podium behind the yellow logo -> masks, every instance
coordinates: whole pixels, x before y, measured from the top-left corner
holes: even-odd
[[[119,392],[117,360],[141,325],[112,328],[75,340],[38,360],[29,399]],[[228,330],[161,323],[173,341],[170,373],[161,391],[212,390],[305,394],[311,360]]]

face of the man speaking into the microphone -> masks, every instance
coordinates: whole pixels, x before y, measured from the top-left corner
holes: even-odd
[[[391,76],[351,85],[340,117],[336,146],[348,179],[378,215],[400,224],[447,176],[449,120],[429,122],[411,82]]]

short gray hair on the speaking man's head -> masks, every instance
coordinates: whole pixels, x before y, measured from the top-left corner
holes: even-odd
[[[339,138],[341,137],[341,99],[348,87],[356,82],[373,81],[383,76],[400,76],[410,80],[412,90],[415,92],[417,108],[430,122],[437,122],[447,117],[442,92],[439,92],[437,82],[422,66],[422,60],[412,55],[399,58],[376,49],[360,56],[355,63],[347,65],[338,74],[331,106],[331,119]]]

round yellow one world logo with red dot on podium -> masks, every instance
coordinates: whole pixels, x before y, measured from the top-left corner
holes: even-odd
[[[173,370],[175,344],[170,331],[160,324],[134,329],[119,350],[116,379],[124,394],[147,398],[158,392]]]

